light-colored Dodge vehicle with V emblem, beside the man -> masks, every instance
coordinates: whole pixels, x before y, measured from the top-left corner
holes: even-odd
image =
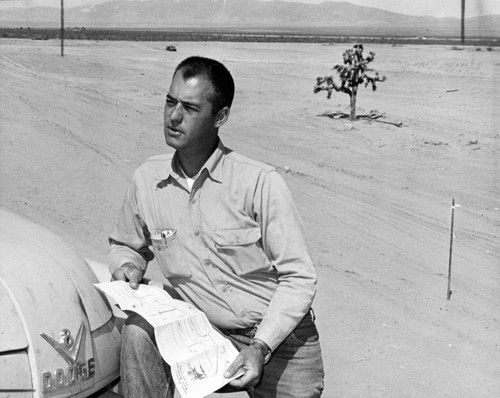
[[[89,264],[0,208],[1,396],[118,396],[120,332]]]

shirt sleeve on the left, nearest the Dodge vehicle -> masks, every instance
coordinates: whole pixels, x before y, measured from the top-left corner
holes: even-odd
[[[153,258],[149,249],[149,232],[139,211],[137,179],[138,172],[127,189],[118,219],[109,235],[108,263],[111,273],[127,262],[145,271],[147,263]]]

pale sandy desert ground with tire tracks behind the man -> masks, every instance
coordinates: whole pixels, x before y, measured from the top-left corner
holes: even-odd
[[[500,49],[365,45],[387,81],[358,113],[398,128],[318,116],[348,108],[313,93],[348,45],[167,44],[1,40],[0,205],[105,261],[133,171],[170,151],[173,68],[219,59],[223,142],[282,172],[308,232],[324,396],[500,396]]]

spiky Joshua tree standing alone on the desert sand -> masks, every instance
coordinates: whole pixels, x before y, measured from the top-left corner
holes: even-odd
[[[351,99],[350,116],[351,119],[355,119],[358,86],[364,83],[366,87],[370,84],[375,91],[377,89],[376,82],[385,81],[385,76],[380,77],[378,72],[368,67],[368,64],[374,60],[375,53],[371,51],[370,54],[364,58],[362,44],[355,44],[352,49],[346,50],[343,57],[344,64],[338,64],[333,67],[340,78],[340,85],[335,82],[333,76],[320,76],[316,78],[314,92],[318,93],[322,90],[326,90],[328,92],[328,99],[332,96],[333,90],[348,94]]]

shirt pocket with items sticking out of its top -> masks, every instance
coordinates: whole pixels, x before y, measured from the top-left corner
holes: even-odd
[[[167,278],[191,277],[191,270],[182,255],[177,230],[162,232],[151,235],[151,245],[161,271]]]

